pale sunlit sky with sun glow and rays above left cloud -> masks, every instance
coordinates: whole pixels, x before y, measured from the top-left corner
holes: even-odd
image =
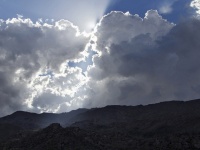
[[[103,16],[111,0],[19,0],[30,15],[43,19],[66,19],[79,26],[81,31],[91,31],[96,22]],[[18,12],[18,14],[23,12]],[[25,16],[31,17],[31,16]]]

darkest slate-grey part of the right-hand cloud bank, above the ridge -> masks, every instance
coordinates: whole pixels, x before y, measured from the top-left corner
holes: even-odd
[[[199,20],[189,20],[174,27],[169,34],[156,41],[155,45],[142,42],[151,43],[152,40],[146,35],[146,38],[139,37],[140,43],[135,42],[138,41],[136,37],[131,43],[120,44],[120,47],[113,46],[111,51],[117,55],[115,59],[119,60],[118,73],[125,77],[143,76],[145,80],[141,82],[150,86],[151,92],[146,96],[149,103],[152,98],[153,100],[199,98],[199,93],[194,90],[194,87],[199,87],[200,84],[199,28]],[[139,45],[139,48],[133,51],[136,45]],[[118,55],[116,50],[122,47],[127,53]],[[145,90],[141,91],[146,95]]]

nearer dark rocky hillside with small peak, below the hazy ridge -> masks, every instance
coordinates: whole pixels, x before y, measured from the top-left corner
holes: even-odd
[[[101,130],[99,130],[101,128]],[[110,128],[111,130],[108,130]],[[94,129],[94,127],[93,127]],[[104,130],[105,129],[105,130]],[[115,126],[85,130],[60,124],[1,143],[4,150],[199,150],[200,132],[138,134]]]

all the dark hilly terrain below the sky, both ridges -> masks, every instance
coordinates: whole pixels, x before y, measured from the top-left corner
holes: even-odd
[[[200,100],[0,118],[0,150],[200,149]]]

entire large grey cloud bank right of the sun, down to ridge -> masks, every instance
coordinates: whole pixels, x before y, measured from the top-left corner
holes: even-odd
[[[171,24],[153,10],[144,19],[105,16],[96,29],[99,56],[89,70],[85,106],[199,98],[199,26],[195,19]]]

